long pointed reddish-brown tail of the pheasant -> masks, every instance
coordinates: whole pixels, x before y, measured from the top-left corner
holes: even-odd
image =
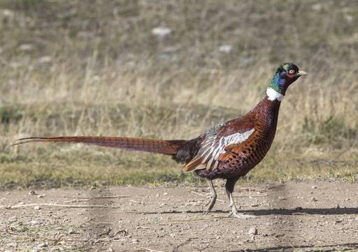
[[[55,137],[55,138],[20,138],[12,144],[24,144],[27,142],[71,142],[94,144],[105,147],[127,149],[131,151],[147,151],[158,154],[173,155],[187,140],[155,140],[145,138],[121,138],[121,137]]]

